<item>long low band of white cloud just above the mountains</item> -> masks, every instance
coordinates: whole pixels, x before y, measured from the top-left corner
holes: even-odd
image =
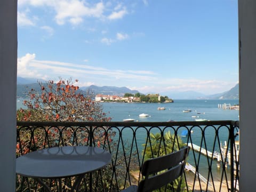
[[[129,86],[142,93],[197,91],[205,94],[221,93],[234,86],[234,82],[211,79],[165,78],[150,70],[120,70],[78,65],[60,61],[36,60],[35,54],[27,53],[18,58],[18,76],[34,77],[45,80],[58,77],[79,79],[79,84]],[[84,60],[87,62],[87,60]],[[116,81],[118,79],[118,81]]]

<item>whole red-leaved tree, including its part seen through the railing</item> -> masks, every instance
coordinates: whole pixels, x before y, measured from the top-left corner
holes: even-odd
[[[78,80],[75,81],[75,83],[77,82]],[[27,109],[21,108],[17,111],[17,121],[110,121],[111,118],[106,117],[106,114],[103,113],[101,104],[93,100],[92,92],[87,92],[86,95],[82,94],[82,91],[79,90],[75,83],[70,79],[67,81],[60,79],[57,83],[53,81],[48,81],[44,84],[39,82],[41,89],[39,91],[31,89],[28,92],[29,99],[23,101],[23,105]],[[83,134],[79,134],[82,128],[76,131],[76,135],[74,135],[76,128],[73,129],[71,127],[45,127],[45,129],[49,138],[48,143],[45,142],[44,134],[38,129],[33,134],[23,130],[20,132],[22,134],[18,144],[23,146],[22,153],[55,145],[74,145],[75,140],[79,145],[88,145],[89,133],[83,130]],[[107,129],[108,127],[98,127],[93,132],[95,146],[105,145],[107,141],[111,141],[110,138],[114,137],[115,132],[107,131]],[[31,136],[34,138],[31,138]],[[61,139],[59,138],[60,136]],[[55,141],[57,140],[61,141],[61,143],[56,143]],[[18,153],[19,149],[17,148]]]

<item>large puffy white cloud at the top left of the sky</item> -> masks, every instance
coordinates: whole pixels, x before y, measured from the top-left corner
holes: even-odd
[[[111,6],[112,3],[88,3],[84,0],[19,0],[18,9],[21,10],[26,6],[34,7],[50,7],[54,10],[54,20],[58,25],[65,25],[69,22],[71,25],[78,25],[82,23],[85,17],[88,18],[99,18],[116,20],[122,19],[124,15],[128,14],[126,7],[121,3]],[[47,8],[46,8],[47,9]],[[110,14],[109,14],[110,13]],[[31,21],[31,19],[24,17],[22,18]],[[23,23],[23,22],[22,22]],[[30,22],[30,25],[33,22]]]

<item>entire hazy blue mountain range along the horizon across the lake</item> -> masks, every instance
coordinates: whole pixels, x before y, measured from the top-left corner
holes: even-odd
[[[22,78],[17,77],[17,97],[26,97],[28,90],[35,89],[39,91],[39,86],[37,80],[33,78]],[[41,81],[44,82],[44,81]],[[139,91],[130,90],[127,87],[116,87],[116,86],[87,86],[80,87],[79,90],[83,94],[85,94],[88,90],[91,90],[95,95],[96,94],[106,94],[106,95],[119,95],[122,96],[125,93],[135,94]],[[142,93],[143,94],[143,93]],[[186,92],[163,92],[161,95],[167,95],[171,99],[239,99],[239,84],[236,84],[230,90],[213,94],[213,95],[205,95],[203,93],[195,92],[195,91],[186,91]]]

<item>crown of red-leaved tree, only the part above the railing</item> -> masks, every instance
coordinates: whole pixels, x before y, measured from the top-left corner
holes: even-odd
[[[75,81],[77,83],[78,80]],[[110,121],[102,112],[99,102],[93,100],[93,93],[82,94],[71,79],[60,79],[54,83],[39,82],[41,92],[29,91],[29,99],[23,101],[28,110],[20,109],[18,121]]]

